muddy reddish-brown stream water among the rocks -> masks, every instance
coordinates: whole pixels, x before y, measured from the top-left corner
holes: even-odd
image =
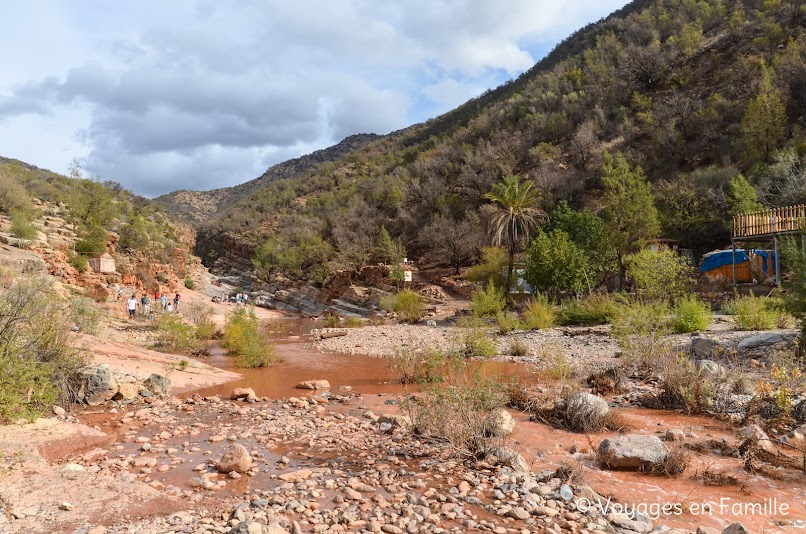
[[[290,320],[286,338],[277,343],[277,352],[283,361],[270,368],[234,369],[231,358],[223,351],[214,351],[206,363],[236,370],[243,378],[193,393],[227,398],[235,387],[250,387],[258,396],[275,399],[300,397],[321,392],[295,389],[295,384],[304,380],[325,379],[334,389],[350,386],[363,395],[358,402],[346,406],[345,410],[357,414],[366,408],[376,413],[395,411],[397,407],[389,401],[411,392],[411,387],[396,384],[392,372],[381,358],[316,351],[302,336],[317,326],[320,325],[312,321]],[[512,377],[538,379],[530,367],[521,364],[483,362],[479,369],[482,375],[500,377],[500,380]],[[713,418],[636,407],[619,407],[615,411],[630,433],[662,435],[669,428],[679,428],[696,436],[687,438],[690,444],[724,441],[738,445],[736,429]],[[572,466],[584,482],[604,496],[603,504],[610,510],[619,511],[619,503],[626,503],[652,516],[656,523],[692,530],[697,526],[724,528],[736,521],[741,521],[754,532],[806,530],[806,476],[799,471],[780,470],[776,478],[761,476],[745,471],[739,458],[714,453],[693,453],[686,472],[675,478],[608,471],[599,466],[594,451],[602,439],[615,433],[583,435],[530,422],[524,414],[515,414],[515,419],[515,432],[508,445],[523,454],[535,472],[553,470],[560,465]],[[128,442],[126,449],[134,448],[129,439],[124,441]],[[294,446],[289,445],[283,450],[265,450],[262,461],[273,462],[279,455],[293,449]],[[289,469],[334,460],[307,456],[309,461],[294,460]],[[203,460],[203,457],[199,460]],[[335,460],[350,461],[349,458]],[[154,474],[152,479],[184,485],[183,482],[192,475],[189,470],[192,465],[194,463],[190,462],[178,472],[172,470],[164,475]],[[704,472],[721,475],[728,482],[708,485],[702,480]],[[262,477],[241,479],[227,492],[242,490],[247,486],[256,487],[262,483],[268,481],[262,480]]]

